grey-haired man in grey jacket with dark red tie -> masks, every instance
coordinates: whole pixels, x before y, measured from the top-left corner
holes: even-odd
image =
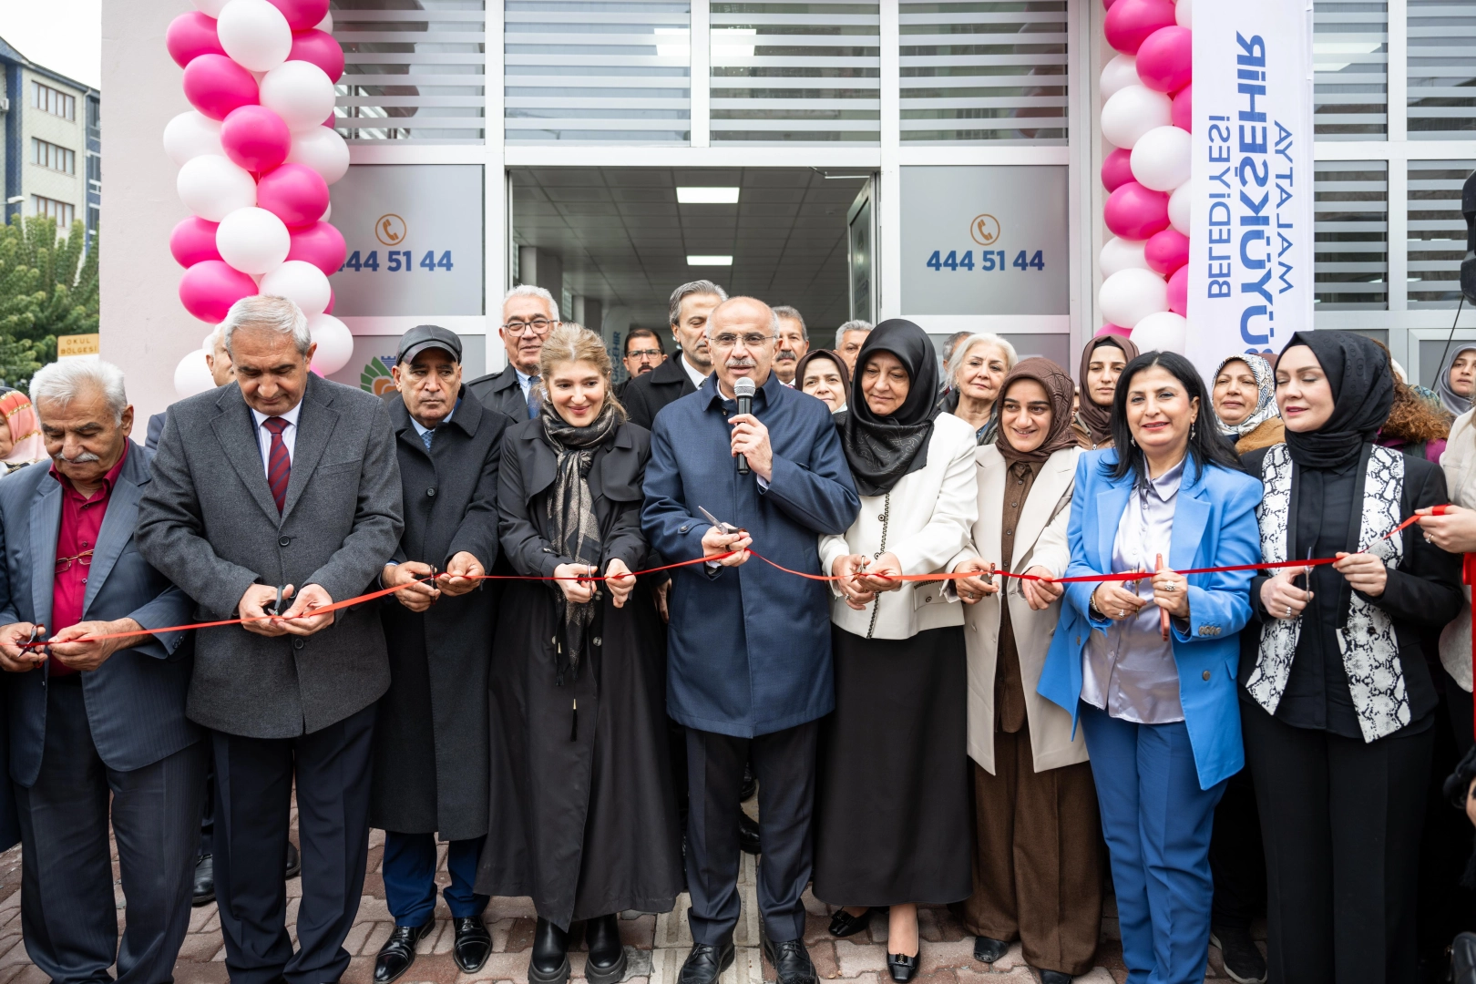
[[[394,555],[400,468],[384,401],[308,372],[314,345],[295,304],[241,299],[223,330],[236,382],[170,407],[136,540],[201,621],[245,620],[198,633],[189,689],[215,758],[230,980],[337,981],[363,890],[390,662],[376,606],[331,606],[369,590]],[[273,617],[279,596],[289,606]],[[294,779],[297,953],[282,884]]]

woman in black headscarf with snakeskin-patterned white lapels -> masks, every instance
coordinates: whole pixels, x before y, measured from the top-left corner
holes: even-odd
[[[1415,530],[1386,538],[1446,502],[1438,466],[1374,444],[1393,392],[1376,342],[1299,332],[1277,360],[1286,444],[1243,459],[1265,485],[1262,559],[1339,558],[1256,577],[1261,630],[1241,633],[1272,984],[1417,980],[1438,699],[1420,636],[1455,617],[1461,587],[1460,558]]]

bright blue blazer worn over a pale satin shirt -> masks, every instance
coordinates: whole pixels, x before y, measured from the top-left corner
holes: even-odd
[[[1117,451],[1091,451],[1076,465],[1076,494],[1072,496],[1069,543],[1072,564],[1067,577],[1111,572],[1117,524],[1128,507],[1134,475],[1111,478],[1107,471]],[[1173,507],[1173,534],[1168,565],[1175,571],[1232,567],[1261,559],[1261,530],[1256,505],[1261,482],[1243,472],[1218,465],[1203,471],[1190,459]],[[1240,772],[1246,763],[1240,739],[1240,705],[1235,670],[1240,662],[1240,630],[1250,618],[1253,571],[1194,574],[1190,581],[1190,621],[1175,620],[1173,659],[1179,671],[1179,701],[1194,748],[1200,788]],[[1082,651],[1092,631],[1106,631],[1106,618],[1089,614],[1097,583],[1067,584],[1061,624],[1051,640],[1041,683],[1042,696],[1076,713],[1082,695]]]

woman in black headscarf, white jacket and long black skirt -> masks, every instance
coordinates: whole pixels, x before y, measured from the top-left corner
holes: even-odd
[[[974,429],[939,413],[937,357],[912,322],[878,325],[856,357],[841,444],[861,493],[821,538],[832,583],[835,711],[816,782],[815,897],[846,906],[837,937],[890,906],[887,965],[918,969],[917,903],[968,897],[967,656],[958,596],[934,574],[968,550]]]

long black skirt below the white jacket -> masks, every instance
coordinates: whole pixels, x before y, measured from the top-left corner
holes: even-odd
[[[964,628],[862,639],[831,627],[835,711],[821,732],[815,897],[832,906],[968,898]]]

